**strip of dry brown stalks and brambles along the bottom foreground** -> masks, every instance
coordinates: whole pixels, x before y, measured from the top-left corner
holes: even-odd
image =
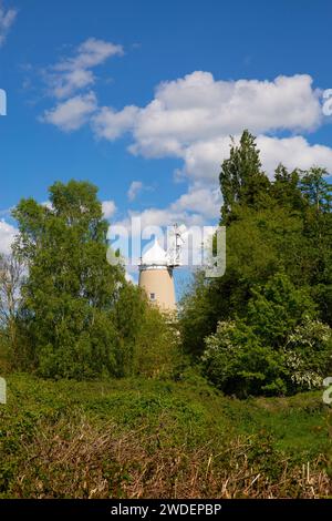
[[[120,432],[76,413],[43,423],[29,440],[11,497],[17,498],[326,498],[323,457],[290,464],[266,440],[237,437],[216,453],[162,447],[147,426]],[[281,459],[280,459],[281,458]]]

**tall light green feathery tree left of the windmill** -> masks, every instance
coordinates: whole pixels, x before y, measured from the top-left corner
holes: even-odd
[[[22,200],[13,212],[14,252],[29,273],[20,309],[29,364],[45,377],[121,372],[114,309],[127,283],[121,267],[107,264],[96,193],[86,182],[55,183],[49,206]]]

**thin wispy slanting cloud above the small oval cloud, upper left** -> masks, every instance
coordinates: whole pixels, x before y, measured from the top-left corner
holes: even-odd
[[[51,67],[45,73],[50,92],[58,99],[71,96],[77,90],[91,86],[95,75],[91,69],[101,65],[108,58],[122,55],[122,45],[90,38],[66,58]]]

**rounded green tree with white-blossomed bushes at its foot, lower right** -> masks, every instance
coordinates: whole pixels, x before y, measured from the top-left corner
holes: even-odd
[[[206,338],[204,374],[240,398],[320,388],[331,368],[332,330],[284,274],[252,292],[246,319],[220,321]]]

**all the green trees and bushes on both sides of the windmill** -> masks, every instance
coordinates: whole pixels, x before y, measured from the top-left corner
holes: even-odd
[[[321,387],[332,376],[326,172],[280,164],[270,180],[245,131],[221,165],[220,190],[226,273],[197,273],[180,303],[179,336],[123,267],[107,263],[94,185],[55,183],[49,205],[22,200],[13,255],[0,259],[0,350],[10,367],[51,378],[175,375],[184,350],[230,395]]]

